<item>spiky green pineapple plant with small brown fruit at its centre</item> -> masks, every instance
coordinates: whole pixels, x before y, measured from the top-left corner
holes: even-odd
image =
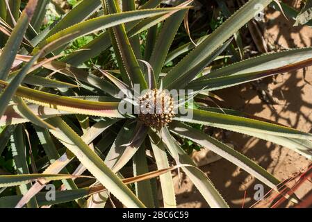
[[[278,189],[280,181],[272,174],[194,124],[265,139],[312,158],[309,133],[197,103],[217,89],[311,65],[312,49],[302,48],[205,73],[234,46],[231,36],[260,12],[256,6],[265,8],[272,1],[249,0],[196,45],[190,42],[173,51],[191,0],[174,7],[162,7],[161,0],[83,0],[43,29],[49,0],[26,1],[22,14],[21,1],[5,2],[0,1],[0,155],[10,153],[15,173],[0,176],[1,207],[73,202],[105,207],[110,195],[125,207],[176,207],[171,173],[176,169],[186,173],[208,205],[229,207],[179,138],[210,149]],[[144,44],[142,32],[147,32]],[[85,36],[90,41],[67,50]],[[113,55],[117,69],[94,64],[92,58],[99,54]],[[183,54],[176,65],[165,67]],[[156,169],[150,170],[151,163]],[[58,187],[55,198],[47,198],[48,185]],[[158,189],[163,203],[155,195]]]

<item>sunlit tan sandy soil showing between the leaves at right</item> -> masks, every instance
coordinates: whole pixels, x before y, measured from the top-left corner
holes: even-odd
[[[299,5],[298,1],[291,1],[291,3],[293,6]],[[280,12],[274,10],[265,12],[265,17],[265,23],[262,24],[263,36],[272,50],[311,46],[312,28],[293,27],[293,21],[287,21]],[[311,132],[311,84],[312,67],[309,67],[257,83],[258,86],[271,92],[274,101],[279,104],[263,101],[252,84],[221,90],[217,95],[224,99],[225,103],[220,104],[223,107],[241,110],[304,132]],[[305,157],[288,148],[236,133],[226,133],[226,135],[226,141],[233,144],[234,148],[258,162],[279,180],[290,178],[293,173],[304,171],[311,164]],[[202,167],[202,170],[211,178],[231,207],[242,207],[245,191],[247,191],[245,207],[255,202],[254,185],[261,182],[227,160],[218,160]],[[174,179],[179,207],[208,207],[188,178],[182,178],[181,187],[179,187],[179,179],[177,177]],[[311,187],[310,182],[305,182],[297,195],[304,196]]]

